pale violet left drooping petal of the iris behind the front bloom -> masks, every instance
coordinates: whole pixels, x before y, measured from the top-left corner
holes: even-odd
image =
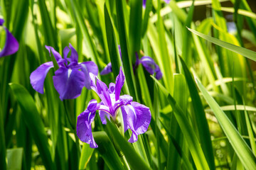
[[[43,94],[43,82],[46,79],[46,74],[52,67],[53,62],[46,62],[44,64],[41,64],[41,66],[39,66],[35,71],[31,73],[31,86],[40,94]]]

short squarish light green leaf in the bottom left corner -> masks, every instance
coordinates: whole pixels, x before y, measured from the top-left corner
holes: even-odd
[[[23,148],[7,149],[7,170],[21,170]]]

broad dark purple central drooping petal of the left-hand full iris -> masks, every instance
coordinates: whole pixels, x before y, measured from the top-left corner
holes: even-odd
[[[78,69],[60,67],[55,71],[53,84],[60,94],[60,100],[77,98],[85,85],[85,75]]]

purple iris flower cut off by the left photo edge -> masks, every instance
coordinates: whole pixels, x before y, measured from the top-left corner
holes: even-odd
[[[0,18],[0,26],[3,26],[3,24],[4,19]],[[6,27],[4,27],[4,30],[6,31],[6,43],[3,50],[0,52],[0,57],[12,55],[18,51],[18,41],[14,38],[14,35],[12,35]]]

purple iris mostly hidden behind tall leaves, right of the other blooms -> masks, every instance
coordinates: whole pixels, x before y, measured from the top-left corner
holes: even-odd
[[[118,47],[119,47],[119,54],[122,58],[120,46],[118,45]],[[154,62],[154,60],[151,57],[143,56],[141,59],[139,59],[137,52],[135,53],[135,55],[136,55],[136,62],[134,64],[134,69],[136,69],[139,66],[139,64],[142,64],[142,66],[146,69],[147,72],[149,72],[149,74],[156,73],[156,79],[161,79],[163,77],[163,74],[159,66],[156,64],[156,62]],[[102,72],[100,72],[100,75],[109,74],[110,72],[112,72],[111,62],[107,64],[107,66],[104,69],[102,69]]]

